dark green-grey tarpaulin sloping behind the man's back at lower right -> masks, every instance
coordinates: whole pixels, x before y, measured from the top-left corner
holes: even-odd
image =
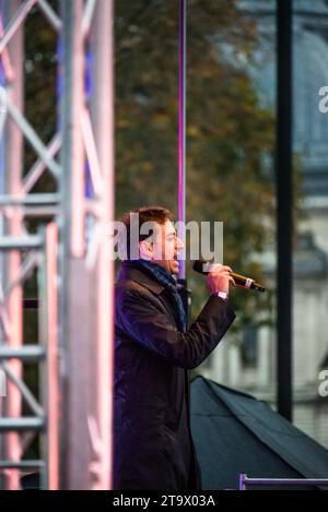
[[[249,478],[328,478],[328,450],[265,402],[202,377],[190,390],[203,489],[236,489],[241,473]]]

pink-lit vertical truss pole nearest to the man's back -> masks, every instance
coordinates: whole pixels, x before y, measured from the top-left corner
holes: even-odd
[[[93,83],[92,120],[103,191],[99,198],[101,234],[95,269],[94,417],[98,429],[98,462],[95,489],[112,487],[112,438],[114,390],[114,262],[108,225],[114,219],[114,2],[98,0],[92,26]]]

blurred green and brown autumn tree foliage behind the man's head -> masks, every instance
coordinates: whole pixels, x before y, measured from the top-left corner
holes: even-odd
[[[225,263],[263,278],[254,254],[272,236],[274,118],[245,66],[258,45],[235,1],[188,2],[187,221],[223,222]],[[178,52],[178,2],[116,3],[118,215],[154,203],[177,213]],[[202,278],[188,276],[197,312]],[[234,295],[242,322],[270,307],[268,295]]]

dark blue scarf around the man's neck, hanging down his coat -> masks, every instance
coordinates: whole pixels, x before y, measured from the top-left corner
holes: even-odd
[[[163,266],[157,265],[154,262],[147,261],[147,260],[136,260],[133,263],[141,266],[151,276],[157,281],[161,285],[163,285],[174,298],[176,303],[176,309],[178,312],[178,323],[180,332],[186,332],[187,330],[187,315],[184,307],[183,299],[177,290],[176,281],[169,272],[167,272]]]

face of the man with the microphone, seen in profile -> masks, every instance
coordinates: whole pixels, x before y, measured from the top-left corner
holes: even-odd
[[[172,274],[178,274],[178,252],[183,249],[184,243],[177,237],[171,221],[157,226],[159,228],[153,237],[151,261],[163,266]]]

